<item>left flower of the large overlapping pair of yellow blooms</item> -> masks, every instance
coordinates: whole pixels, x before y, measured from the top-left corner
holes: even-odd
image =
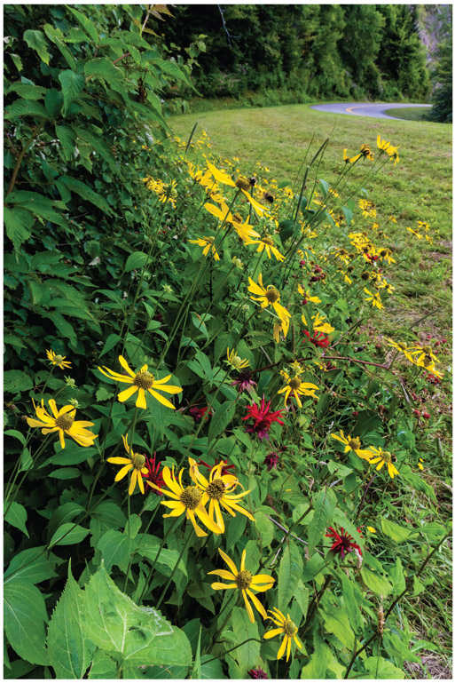
[[[187,520],[190,520],[192,527],[196,532],[196,536],[208,536],[208,534],[200,528],[198,522],[196,521],[195,515],[197,515],[200,521],[208,528],[213,531],[214,534],[221,534],[221,528],[219,528],[215,522],[209,519],[207,510],[202,504],[203,493],[197,486],[187,486],[184,487],[182,483],[182,474],[184,470],[180,470],[178,474],[178,481],[174,474],[174,467],[172,468],[172,473],[169,467],[163,467],[162,478],[164,483],[169,488],[160,488],[153,481],[146,480],[147,484],[152,488],[156,488],[157,491],[164,493],[172,500],[163,500],[161,505],[170,508],[169,514],[163,514],[163,517],[179,517],[184,514]]]

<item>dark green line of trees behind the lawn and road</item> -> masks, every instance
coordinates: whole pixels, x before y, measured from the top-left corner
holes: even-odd
[[[425,48],[412,5],[178,5],[162,28],[183,52],[203,38],[195,83],[206,97],[425,99]],[[176,52],[177,53],[177,52]]]

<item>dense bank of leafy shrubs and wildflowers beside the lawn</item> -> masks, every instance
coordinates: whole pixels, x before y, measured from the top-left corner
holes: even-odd
[[[441,368],[361,330],[394,218],[343,195],[397,147],[290,187],[172,137],[163,19],[5,8],[5,676],[401,678],[450,533],[402,369]]]

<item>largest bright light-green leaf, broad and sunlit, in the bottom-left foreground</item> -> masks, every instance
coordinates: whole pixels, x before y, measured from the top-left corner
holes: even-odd
[[[107,576],[104,566],[90,577],[84,593],[85,634],[97,647],[131,665],[190,666],[192,649],[184,631],[157,609],[137,607]]]

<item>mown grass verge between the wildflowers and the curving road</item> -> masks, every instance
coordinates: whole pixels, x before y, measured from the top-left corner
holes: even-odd
[[[379,176],[359,186],[365,169],[354,167],[347,188],[354,191],[366,187],[380,223],[390,214],[396,217],[396,225],[387,226],[388,246],[393,248],[396,258],[396,266],[387,269],[387,277],[396,286],[396,292],[386,309],[372,316],[364,331],[374,330],[376,342],[385,336],[408,342],[412,338],[422,340],[427,333],[437,339],[450,338],[451,125],[332,115],[312,110],[309,105],[224,109],[170,119],[173,131],[183,138],[189,136],[196,122],[208,132],[213,151],[220,158],[239,156],[239,166],[246,173],[254,172],[259,161],[271,169],[278,183],[294,181],[313,135],[314,151],[324,139],[330,138],[318,178],[332,183],[340,169],[344,147],[349,155],[355,155],[364,142],[376,147],[378,133],[398,146],[400,163],[395,168],[389,165]],[[415,229],[417,220],[428,221],[434,234],[433,244],[406,231],[407,226]],[[383,345],[379,353],[386,351]],[[451,369],[448,353],[440,355],[444,369]],[[404,364],[399,367],[412,385],[412,371]],[[433,457],[428,458],[428,469],[422,476],[435,488],[443,522],[451,515],[450,386],[450,374],[446,372],[442,388],[431,392],[426,409],[432,415],[432,423],[422,446],[427,458],[429,434],[430,441],[434,441],[433,448],[429,446]],[[405,497],[404,518],[406,509],[420,506],[415,493]],[[447,673],[451,657],[451,555],[449,551],[442,555],[431,591],[403,603],[412,627],[439,647],[439,658],[431,660],[432,655],[428,655],[427,671],[416,671],[413,665],[412,674],[418,678],[441,677],[444,669]]]

